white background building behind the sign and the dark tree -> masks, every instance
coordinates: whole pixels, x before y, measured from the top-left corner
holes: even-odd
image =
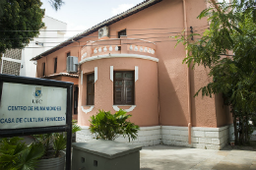
[[[42,22],[45,27],[40,28],[38,37],[33,38],[28,46],[24,49],[10,49],[5,52],[0,64],[1,74],[36,77],[36,62],[30,61],[32,56],[50,49],[56,45],[56,42],[62,42],[67,29],[67,24],[47,16],[43,17]]]

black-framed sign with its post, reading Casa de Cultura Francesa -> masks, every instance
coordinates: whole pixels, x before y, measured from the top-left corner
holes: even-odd
[[[71,169],[73,83],[0,74],[0,138],[67,132]]]

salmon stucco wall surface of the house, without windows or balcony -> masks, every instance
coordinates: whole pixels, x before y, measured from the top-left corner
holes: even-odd
[[[187,12],[187,27],[190,31],[190,27],[193,27],[195,32],[202,32],[204,28],[208,28],[208,22],[206,19],[198,20],[197,16],[202,10],[206,8],[205,0],[186,1]],[[137,14],[134,14],[128,18],[125,18],[117,23],[108,26],[110,38],[117,38],[118,31],[126,28],[127,38],[140,38],[147,41],[153,41],[157,44],[156,56],[159,58],[159,63],[154,66],[149,65],[147,68],[143,63],[137,59],[116,58],[114,62],[109,59],[102,59],[99,61],[91,61],[84,63],[81,70],[85,74],[93,73],[95,67],[98,68],[98,80],[96,82],[96,100],[97,106],[92,112],[86,114],[79,111],[79,124],[87,126],[88,119],[92,114],[96,114],[97,109],[105,108],[105,110],[113,111],[112,108],[112,85],[109,80],[109,67],[115,64],[114,69],[120,70],[134,70],[134,66],[139,65],[139,81],[136,85],[140,85],[146,73],[149,72],[154,75],[154,80],[157,80],[159,89],[157,93],[152,94],[151,99],[146,98],[149,103],[154,105],[154,111],[147,112],[152,104],[142,104],[143,97],[137,98],[136,95],[136,109],[140,110],[140,114],[136,110],[132,112],[133,117],[131,120],[140,126],[183,126],[187,127],[189,122],[189,108],[188,108],[188,85],[187,85],[187,65],[182,64],[182,60],[185,58],[185,49],[182,44],[179,44],[174,48],[176,41],[169,36],[176,35],[177,32],[184,30],[184,15],[183,15],[183,3],[182,0],[163,0],[160,3],[149,7]],[[98,40],[97,31],[90,34],[88,37],[80,39],[80,42],[74,42],[65,48],[59,49],[54,53],[47,56],[46,74],[53,73],[53,58],[58,57],[58,70],[57,72],[65,72],[66,70],[66,53],[71,52],[72,56],[78,56],[81,60],[81,48],[86,45],[89,40]],[[78,46],[81,47],[78,47]],[[37,67],[40,67],[40,63],[45,60],[45,57],[38,60]],[[101,62],[101,63],[100,63]],[[135,62],[129,65],[130,62]],[[146,62],[147,63],[147,62]],[[141,66],[142,65],[142,66]],[[37,73],[40,75],[42,69],[38,67]],[[153,68],[153,69],[149,69]],[[153,73],[154,72],[154,73]],[[195,67],[195,70],[190,70],[190,89],[191,89],[191,111],[192,111],[192,127],[222,127],[227,125],[231,121],[228,109],[223,108],[222,97],[213,96],[212,98],[205,96],[193,97],[195,92],[202,86],[207,85],[212,80],[208,78],[209,70],[204,67]],[[141,76],[144,74],[144,76]],[[79,73],[80,75],[80,73]],[[106,76],[103,76],[106,75]],[[148,74],[149,75],[149,74]],[[85,77],[86,78],[86,77]],[[80,78],[81,79],[81,78]],[[147,78],[148,79],[148,78]],[[84,79],[84,85],[86,84]],[[141,82],[140,82],[141,81]],[[148,80],[147,80],[148,81]],[[147,82],[146,81],[146,82]],[[103,85],[103,83],[106,83]],[[145,85],[142,85],[145,86]],[[84,92],[80,92],[80,106],[86,104],[86,86],[80,86],[80,89],[84,89]],[[109,89],[109,90],[105,90]],[[135,87],[136,92],[140,90],[142,94],[149,93],[149,90],[145,87]],[[107,96],[100,97],[101,95]],[[159,98],[158,98],[159,94]],[[160,103],[160,106],[156,106]],[[141,105],[139,108],[139,104]],[[88,109],[89,107],[85,107]],[[150,110],[150,109],[149,109]],[[144,114],[147,113],[147,119]],[[160,115],[160,116],[159,116]],[[81,117],[80,117],[81,116]]]

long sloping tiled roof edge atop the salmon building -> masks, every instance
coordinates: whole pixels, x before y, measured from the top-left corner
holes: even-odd
[[[77,40],[79,40],[79,39],[81,39],[81,38],[83,38],[83,37],[85,37],[85,36],[95,32],[95,31],[97,31],[98,28],[109,26],[109,25],[111,25],[113,23],[116,23],[116,22],[118,22],[120,20],[123,20],[123,19],[125,19],[125,18],[127,18],[127,17],[129,17],[129,16],[131,16],[133,14],[136,14],[136,13],[138,13],[138,12],[148,8],[148,7],[151,7],[151,6],[159,3],[160,1],[162,1],[162,0],[145,0],[142,3],[134,6],[133,8],[131,8],[131,9],[129,9],[129,10],[127,10],[127,11],[121,13],[121,14],[118,14],[118,15],[116,15],[116,16],[108,19],[108,20],[105,20],[105,21],[97,24],[93,28],[89,28],[89,29],[87,29],[87,30],[85,30],[85,31],[83,31],[83,32],[81,32],[81,33],[79,33],[79,34],[77,34],[77,35],[75,35],[75,36],[73,36],[73,37],[63,41],[62,43],[56,45],[55,47],[53,47],[51,49],[48,49],[47,51],[44,51],[43,53],[33,57],[31,59],[31,61],[35,61],[35,60],[38,60],[38,59],[42,58],[43,56],[49,55],[49,54],[51,54],[51,53],[53,53],[53,52],[55,52],[55,51],[57,51],[57,50],[59,50],[61,48],[63,48],[65,46],[73,43],[72,42],[73,40],[77,41]]]

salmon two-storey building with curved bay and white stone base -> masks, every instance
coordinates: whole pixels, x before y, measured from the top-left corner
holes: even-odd
[[[92,140],[89,120],[98,109],[122,108],[141,127],[135,142],[145,146],[221,149],[227,143],[232,120],[222,95],[193,97],[211,82],[209,71],[182,64],[185,48],[174,48],[169,37],[190,28],[203,32],[208,22],[197,16],[207,6],[204,0],[146,0],[32,58],[37,76],[52,78],[55,58],[59,73],[67,56],[78,57],[78,142]],[[72,76],[52,79],[73,82]]]

